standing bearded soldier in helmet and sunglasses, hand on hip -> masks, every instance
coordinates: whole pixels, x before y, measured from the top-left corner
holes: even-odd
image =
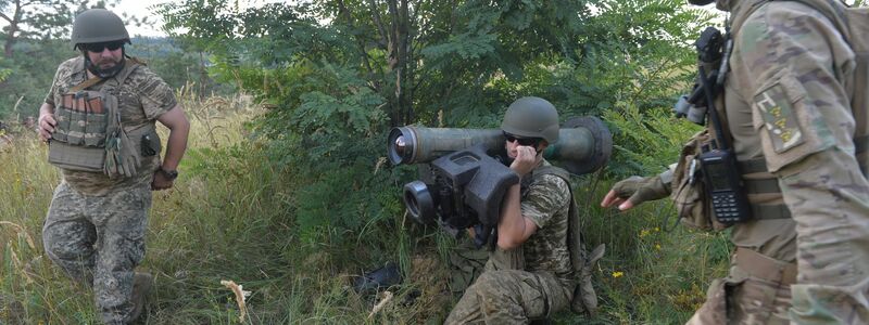
[[[144,257],[151,191],[173,186],[190,125],[168,84],[126,56],[129,35],[117,15],[83,12],[72,42],[83,55],[60,65],[38,119],[63,174],[42,240],[55,264],[92,286],[102,321],[125,324],[140,315],[152,282],[134,272]],[[169,129],[162,161],[155,121]],[[131,154],[110,164],[113,150]]]

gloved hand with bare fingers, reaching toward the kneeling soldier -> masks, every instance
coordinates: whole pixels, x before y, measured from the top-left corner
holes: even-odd
[[[669,195],[660,177],[630,177],[621,180],[609,190],[601,202],[602,207],[618,206],[621,211],[633,208],[646,200],[662,199]]]

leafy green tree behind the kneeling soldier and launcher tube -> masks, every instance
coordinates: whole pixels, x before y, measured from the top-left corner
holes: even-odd
[[[408,172],[382,166],[390,127],[495,127],[522,95],[563,116],[669,106],[693,72],[685,26],[708,20],[679,0],[235,3],[158,12],[171,35],[212,53],[215,78],[273,107],[254,130],[294,174],[288,186],[305,188],[288,211],[310,240],[357,233],[361,216],[395,231]]]

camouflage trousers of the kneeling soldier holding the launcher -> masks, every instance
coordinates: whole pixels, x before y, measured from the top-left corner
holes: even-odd
[[[575,284],[524,264],[521,248],[496,249],[444,324],[528,324],[570,306]]]

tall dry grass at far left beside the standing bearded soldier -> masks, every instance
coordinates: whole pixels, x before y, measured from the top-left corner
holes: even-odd
[[[88,322],[95,318],[88,289],[55,286],[66,281],[42,253],[41,225],[60,176],[36,133],[20,131],[0,151],[0,323]]]

